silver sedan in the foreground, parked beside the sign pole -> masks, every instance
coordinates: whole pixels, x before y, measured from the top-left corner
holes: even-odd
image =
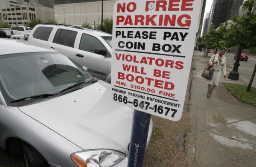
[[[15,46],[15,47],[14,47]],[[0,40],[0,147],[26,167],[127,167],[133,111],[60,52]],[[152,132],[152,120],[148,141]]]

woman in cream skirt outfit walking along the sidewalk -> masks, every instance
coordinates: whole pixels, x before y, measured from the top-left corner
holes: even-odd
[[[221,78],[221,72],[223,71],[224,78],[226,78],[226,57],[224,54],[226,53],[226,49],[222,48],[220,49],[220,52],[218,55],[213,55],[211,59],[209,60],[209,64],[213,66],[214,73],[211,80],[205,79],[204,81],[208,83],[208,92],[207,92],[207,98],[211,98],[212,90],[215,89]]]

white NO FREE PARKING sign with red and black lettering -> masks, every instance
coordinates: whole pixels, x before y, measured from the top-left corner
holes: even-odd
[[[180,120],[201,0],[118,0],[113,8],[112,98]]]

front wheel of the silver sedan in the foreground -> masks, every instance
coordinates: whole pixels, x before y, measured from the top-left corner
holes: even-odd
[[[22,144],[23,156],[26,167],[49,167],[44,157],[29,144]]]

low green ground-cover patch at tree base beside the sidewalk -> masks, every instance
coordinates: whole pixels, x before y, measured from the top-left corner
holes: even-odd
[[[236,83],[224,83],[231,95],[235,96],[239,101],[256,106],[256,88],[251,87],[250,92],[246,91],[246,85]]]

